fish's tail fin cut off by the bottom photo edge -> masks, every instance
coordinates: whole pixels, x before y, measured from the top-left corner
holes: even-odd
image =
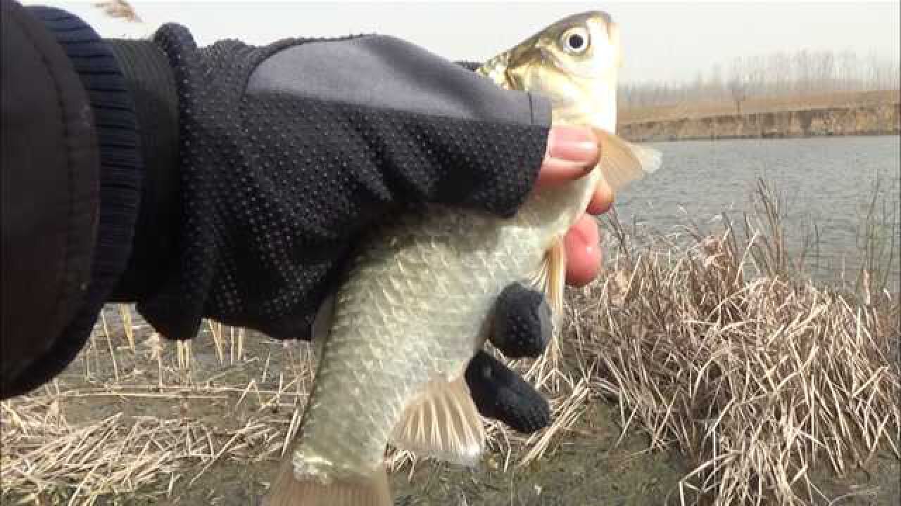
[[[298,479],[290,457],[278,469],[263,506],[391,506],[384,465],[373,474],[355,478],[322,480],[315,476]]]

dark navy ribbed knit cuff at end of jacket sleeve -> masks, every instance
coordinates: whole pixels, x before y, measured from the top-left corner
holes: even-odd
[[[91,282],[84,303],[62,335],[20,377],[24,390],[58,375],[84,347],[97,314],[131,254],[132,234],[141,197],[141,163],[134,104],[112,51],[86,23],[66,11],[27,7],[55,36],[68,55],[89,97],[100,150],[100,210]]]

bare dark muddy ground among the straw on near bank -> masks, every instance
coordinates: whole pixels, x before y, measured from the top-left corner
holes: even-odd
[[[93,346],[86,349],[72,366],[59,377],[60,392],[86,392],[98,387],[110,392],[153,393],[159,384],[159,363],[147,351],[150,335],[141,321],[136,334],[135,351],[124,343],[119,313],[106,312],[106,340],[102,324],[98,324]],[[113,346],[114,345],[114,346]],[[109,359],[114,348],[116,371]],[[177,370],[176,347],[168,344],[163,350],[162,374],[165,392],[173,392],[172,385],[193,384],[193,393],[215,393],[213,399],[186,399],[177,393],[159,397],[98,395],[66,397],[61,410],[70,424],[92,421],[122,412],[123,423],[137,416],[162,420],[193,420],[204,424],[214,433],[228,438],[254,417],[271,420],[279,429],[287,428],[294,411],[293,399],[286,395],[273,406],[266,401],[271,395],[259,398],[247,395],[241,402],[241,389],[251,380],[260,390],[277,391],[279,373],[293,374],[292,365],[301,364],[296,349],[291,354],[284,347],[268,339],[248,336],[242,359],[230,364],[231,345],[225,339],[223,364],[216,357],[214,341],[209,330],[196,339],[194,359],[189,374]],[[268,365],[267,365],[268,363]],[[263,369],[268,371],[265,381]],[[89,374],[87,372],[89,371]],[[118,373],[119,380],[114,375]],[[283,377],[283,379],[284,379]],[[188,379],[190,378],[190,379]],[[232,390],[228,390],[231,388]],[[187,390],[184,390],[187,392]],[[620,413],[613,402],[594,399],[585,406],[583,416],[575,427],[552,445],[549,453],[525,467],[511,463],[504,471],[504,456],[490,452],[483,464],[475,469],[460,469],[451,465],[419,464],[410,474],[409,466],[391,475],[390,481],[396,504],[421,505],[484,505],[484,506],[555,506],[555,505],[656,505],[678,504],[679,481],[694,463],[675,450],[647,451],[649,438],[638,430],[621,436]],[[232,432],[230,432],[232,431]],[[208,459],[182,456],[170,462],[178,479],[168,490],[170,474],[161,473],[159,480],[144,484],[136,492],[105,495],[98,504],[175,506],[210,504],[237,506],[258,504],[259,497],[275,473],[278,461],[270,457],[260,462],[226,452],[213,465]],[[197,474],[203,472],[194,483]],[[826,471],[815,473],[815,482],[830,498],[844,496],[833,504],[896,505],[901,503],[898,461],[893,456],[878,456],[866,471],[858,471],[843,478]],[[60,485],[61,489],[65,487]],[[684,489],[685,492],[689,492]],[[5,501],[13,504],[22,491],[4,489]],[[66,495],[65,492],[62,493]],[[690,495],[687,496],[690,499]],[[817,501],[829,504],[830,501]]]

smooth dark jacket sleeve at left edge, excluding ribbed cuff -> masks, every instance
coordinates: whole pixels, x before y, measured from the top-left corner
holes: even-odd
[[[55,346],[90,281],[98,152],[66,53],[21,5],[2,5],[4,398]]]

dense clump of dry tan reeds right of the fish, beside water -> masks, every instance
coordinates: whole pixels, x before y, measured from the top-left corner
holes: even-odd
[[[815,465],[848,474],[901,456],[897,294],[806,282],[778,195],[761,183],[757,202],[742,233],[727,218],[713,235],[689,229],[695,245],[678,254],[621,239],[614,274],[573,301],[573,327],[592,330],[576,335],[592,388],[623,427],[695,465],[679,502],[828,501]]]

